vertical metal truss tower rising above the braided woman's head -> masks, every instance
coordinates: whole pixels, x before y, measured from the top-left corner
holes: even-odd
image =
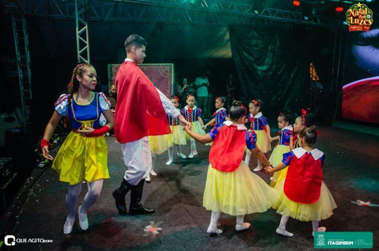
[[[78,63],[89,63],[88,0],[75,0],[76,52]]]

